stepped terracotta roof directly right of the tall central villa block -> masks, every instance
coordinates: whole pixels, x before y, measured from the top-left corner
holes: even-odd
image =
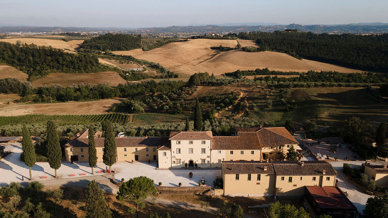
[[[238,136],[214,136],[213,150],[259,150],[260,141],[256,132],[239,132]]]

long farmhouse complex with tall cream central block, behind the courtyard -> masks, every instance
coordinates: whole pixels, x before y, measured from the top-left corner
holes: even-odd
[[[158,168],[220,168],[225,160],[281,159],[297,140],[283,127],[237,128],[236,136],[211,131],[171,132],[169,137],[116,137],[117,161],[158,161]],[[98,161],[104,138],[95,133]],[[88,161],[88,130],[65,144],[66,161]]]

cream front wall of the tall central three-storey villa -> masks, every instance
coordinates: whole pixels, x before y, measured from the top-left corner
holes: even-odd
[[[177,141],[180,144],[177,144]],[[189,144],[190,141],[192,144]],[[205,141],[205,144],[202,144],[202,141]],[[210,168],[210,146],[211,140],[171,140],[172,168],[182,168],[190,160],[197,163],[200,168]],[[180,153],[177,153],[178,148]],[[190,148],[192,148],[192,153],[189,153]],[[202,148],[205,148],[205,153],[202,153]],[[179,159],[180,163],[178,163]],[[205,163],[202,163],[202,159],[205,159]]]

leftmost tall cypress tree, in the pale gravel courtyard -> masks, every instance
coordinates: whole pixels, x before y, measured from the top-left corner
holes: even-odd
[[[30,170],[30,180],[32,180],[32,174],[31,174],[31,168],[35,165],[36,162],[36,154],[35,154],[35,148],[32,144],[31,135],[28,131],[28,128],[25,124],[23,124],[22,128],[22,148],[23,148],[23,155],[24,155],[24,163],[27,165],[27,167]]]

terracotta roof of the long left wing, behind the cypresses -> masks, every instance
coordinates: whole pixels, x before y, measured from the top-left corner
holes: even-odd
[[[94,138],[96,147],[104,147],[105,138]],[[117,147],[148,147],[168,144],[167,137],[122,137],[115,138]],[[66,147],[87,147],[88,138],[77,138],[65,144]]]

